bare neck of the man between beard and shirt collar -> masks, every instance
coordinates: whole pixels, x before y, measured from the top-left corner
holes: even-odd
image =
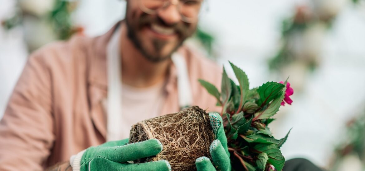
[[[122,58],[123,84],[145,88],[166,79],[172,61],[170,59],[154,63],[146,59],[127,36],[127,25],[121,23],[119,49]]]

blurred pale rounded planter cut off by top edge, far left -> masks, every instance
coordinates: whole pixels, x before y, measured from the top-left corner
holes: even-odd
[[[49,12],[55,0],[19,0],[20,8],[32,15],[42,16]]]

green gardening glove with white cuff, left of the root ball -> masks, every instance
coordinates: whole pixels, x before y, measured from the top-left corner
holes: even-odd
[[[133,161],[157,155],[162,144],[157,139],[127,144],[128,139],[89,147],[70,159],[73,171],[171,171],[166,160],[133,164]]]

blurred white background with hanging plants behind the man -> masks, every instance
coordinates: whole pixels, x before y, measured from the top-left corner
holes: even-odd
[[[205,1],[186,44],[241,67],[251,88],[290,76],[294,102],[270,127],[277,138],[293,128],[285,158],[365,170],[365,0]],[[123,0],[0,4],[0,118],[32,51],[73,34],[101,35],[126,9]]]

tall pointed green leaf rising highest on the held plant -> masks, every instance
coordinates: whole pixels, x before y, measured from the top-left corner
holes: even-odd
[[[240,99],[240,103],[238,106],[238,110],[241,110],[243,103],[246,102],[246,96],[247,96],[247,92],[249,91],[249,79],[247,78],[247,75],[245,72],[242,71],[241,68],[238,68],[236,65],[234,65],[233,63],[229,62],[231,64],[231,67],[233,69],[234,74],[237,77],[238,83],[239,83],[239,89],[241,92],[241,99]]]

